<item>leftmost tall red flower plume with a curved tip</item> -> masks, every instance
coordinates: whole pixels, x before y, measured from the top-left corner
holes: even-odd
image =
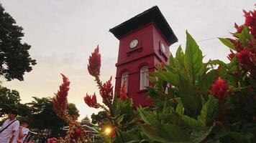
[[[69,84],[68,78],[65,77],[65,75],[61,74],[63,77],[63,84],[60,85],[60,89],[58,90],[58,93],[55,94],[55,97],[53,97],[53,109],[57,114],[60,116],[65,114],[66,107],[68,104],[68,90],[69,90]]]

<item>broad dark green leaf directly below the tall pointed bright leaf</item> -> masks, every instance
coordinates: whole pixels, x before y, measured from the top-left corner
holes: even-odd
[[[180,77],[178,92],[183,107],[190,112],[191,116],[197,117],[201,111],[201,97],[196,94],[196,86]]]

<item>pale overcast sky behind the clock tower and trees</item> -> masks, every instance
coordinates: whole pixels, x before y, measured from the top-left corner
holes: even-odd
[[[37,60],[23,82],[3,81],[3,86],[17,89],[23,103],[31,102],[32,97],[52,97],[58,91],[63,73],[71,82],[68,102],[76,104],[80,119],[98,112],[83,102],[86,92],[96,92],[101,100],[87,71],[88,56],[97,44],[102,55],[101,79],[105,81],[116,74],[119,41],[109,29],[157,5],[178,37],[179,42],[170,46],[174,53],[178,44],[186,42],[186,29],[196,41],[226,36],[234,31],[234,22],[244,22],[242,9],[255,8],[255,1],[251,0],[1,0],[1,3],[24,28],[22,40],[32,45],[29,53]],[[229,50],[218,39],[201,41],[198,45],[206,55],[205,61],[227,61]]]

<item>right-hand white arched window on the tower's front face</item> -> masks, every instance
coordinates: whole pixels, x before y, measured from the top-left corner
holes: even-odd
[[[140,69],[140,90],[149,86],[148,73],[148,66],[142,66],[142,69]]]

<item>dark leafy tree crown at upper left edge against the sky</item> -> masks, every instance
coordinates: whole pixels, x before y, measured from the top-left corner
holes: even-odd
[[[29,55],[31,46],[21,41],[22,30],[0,3],[0,75],[8,81],[22,81],[24,72],[31,71],[32,65],[36,64]]]

